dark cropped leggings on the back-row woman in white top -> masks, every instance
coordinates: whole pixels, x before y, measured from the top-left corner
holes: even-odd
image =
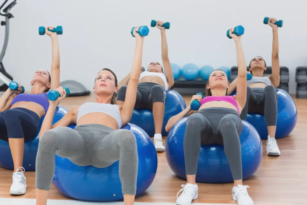
[[[127,86],[122,86],[117,94],[118,101],[125,101]],[[166,92],[165,88],[159,84],[146,82],[138,84],[138,91],[136,94],[136,101],[134,108],[149,110],[153,109],[153,103],[165,103]]]

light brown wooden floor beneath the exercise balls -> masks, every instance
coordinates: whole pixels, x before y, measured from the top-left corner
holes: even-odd
[[[184,97],[186,103],[191,97]],[[68,97],[61,101],[61,105],[71,108],[85,102],[94,102],[94,95],[86,97]],[[307,204],[307,99],[294,99],[297,105],[297,124],[290,136],[278,139],[281,151],[279,157],[268,157],[263,144],[263,160],[258,171],[250,179],[245,180],[249,195],[255,204]],[[166,137],[164,137],[165,139]],[[35,172],[25,172],[27,179],[27,193],[16,198],[35,198]],[[12,171],[0,168],[0,197],[10,196]],[[165,153],[158,153],[158,169],[152,185],[145,194],[136,198],[136,202],[169,202],[175,203],[177,192],[185,181],[176,177],[169,168]],[[196,203],[229,203],[232,201],[231,189],[233,184],[199,183],[198,199]],[[68,199],[60,194],[52,185],[49,199]]]

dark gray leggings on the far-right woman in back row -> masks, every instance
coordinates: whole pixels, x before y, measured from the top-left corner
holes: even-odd
[[[274,86],[267,85],[265,88],[247,86],[246,104],[240,118],[246,120],[247,113],[259,113],[264,115],[266,126],[276,126],[277,104],[278,97]]]

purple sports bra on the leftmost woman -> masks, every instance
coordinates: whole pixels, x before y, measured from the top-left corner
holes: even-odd
[[[40,104],[44,108],[45,112],[47,112],[49,108],[47,93],[42,93],[42,94],[20,93],[16,97],[14,97],[12,105],[22,101],[35,102],[37,104]]]

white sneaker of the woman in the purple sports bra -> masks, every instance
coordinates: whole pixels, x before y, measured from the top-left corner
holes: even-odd
[[[21,170],[21,171],[20,171]],[[18,172],[20,171],[20,172]],[[13,173],[13,183],[10,188],[11,195],[23,195],[27,189],[25,175],[23,174],[25,169],[19,167],[16,172]]]

